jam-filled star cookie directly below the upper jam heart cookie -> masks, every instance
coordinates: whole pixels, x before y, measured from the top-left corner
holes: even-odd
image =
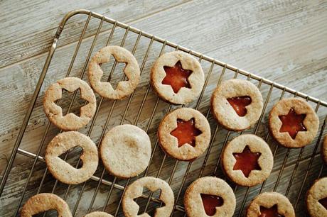
[[[223,171],[232,182],[241,186],[252,187],[264,182],[273,165],[269,145],[257,135],[239,135],[223,150]]]

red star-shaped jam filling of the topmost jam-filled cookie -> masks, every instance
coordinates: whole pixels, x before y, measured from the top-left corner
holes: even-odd
[[[164,66],[164,70],[166,72],[166,77],[164,77],[161,84],[171,85],[175,94],[177,94],[182,87],[191,88],[188,77],[193,71],[183,69],[181,61],[176,62],[173,67]]]

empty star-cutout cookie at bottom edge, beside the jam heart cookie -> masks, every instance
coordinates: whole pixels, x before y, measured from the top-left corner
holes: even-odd
[[[173,197],[173,190],[171,190],[171,187],[169,187],[167,182],[155,177],[143,177],[141,179],[137,179],[135,182],[133,182],[127,187],[122,199],[122,208],[124,215],[126,217],[150,217],[148,213],[138,215],[137,213],[139,212],[139,205],[136,204],[136,202],[134,201],[134,199],[142,196],[144,187],[146,187],[152,192],[158,189],[161,190],[159,199],[164,202],[164,206],[156,208],[153,217],[171,216],[175,200]]]

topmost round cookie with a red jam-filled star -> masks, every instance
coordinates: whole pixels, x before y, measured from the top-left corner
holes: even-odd
[[[154,63],[151,84],[164,101],[188,104],[202,91],[204,73],[193,56],[181,51],[168,52]]]

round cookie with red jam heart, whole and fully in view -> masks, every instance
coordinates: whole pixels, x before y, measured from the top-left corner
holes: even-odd
[[[224,128],[241,131],[256,123],[262,113],[262,95],[251,82],[230,79],[211,96],[213,116]]]

